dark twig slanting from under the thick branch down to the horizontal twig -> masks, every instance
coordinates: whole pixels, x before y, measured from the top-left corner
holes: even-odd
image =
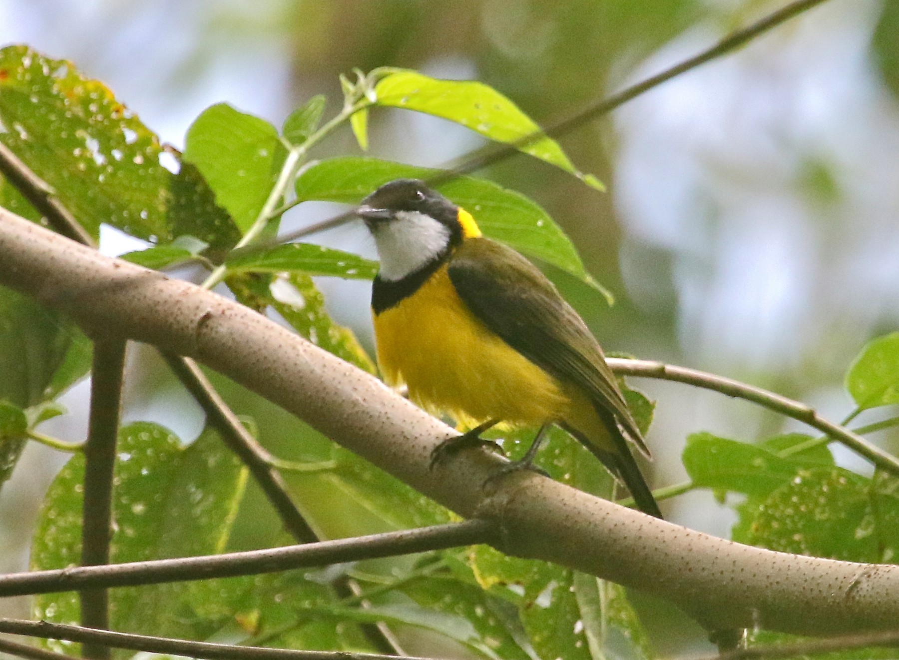
[[[315,531],[312,531],[302,513],[299,513],[296,504],[293,504],[280,473],[271,467],[271,454],[240,423],[200,366],[189,358],[171,353],[163,353],[163,357],[182,385],[200,404],[209,423],[222,436],[228,448],[249,468],[290,535],[300,543],[315,543],[318,540]]]

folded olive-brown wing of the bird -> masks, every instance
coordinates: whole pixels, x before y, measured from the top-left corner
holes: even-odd
[[[600,344],[536,266],[510,247],[470,238],[449,261],[449,280],[485,326],[541,369],[590,392],[649,455]]]

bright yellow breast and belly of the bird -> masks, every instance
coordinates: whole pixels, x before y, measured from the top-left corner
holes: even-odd
[[[571,399],[558,380],[490,332],[458,298],[446,266],[412,296],[374,317],[378,365],[389,385],[459,424],[563,420]]]

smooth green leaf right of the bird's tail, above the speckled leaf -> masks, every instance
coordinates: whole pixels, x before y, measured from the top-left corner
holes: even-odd
[[[693,433],[687,438],[682,459],[696,486],[767,495],[809,465],[800,456],[780,458],[759,445]]]

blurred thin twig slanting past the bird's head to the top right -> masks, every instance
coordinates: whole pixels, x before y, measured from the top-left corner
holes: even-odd
[[[608,114],[610,111],[613,111],[624,105],[625,103],[628,103],[628,101],[632,101],[640,94],[645,94],[645,92],[648,92],[649,90],[654,89],[655,87],[658,87],[663,83],[667,83],[669,80],[676,76],[680,76],[681,74],[684,74],[691,69],[699,67],[713,59],[720,58],[722,55],[726,55],[727,53],[740,48],[750,40],[758,37],[760,34],[770,31],[772,28],[777,27],[781,23],[787,22],[789,19],[794,18],[800,13],[804,13],[807,10],[811,9],[816,4],[822,4],[825,1],[826,0],[797,0],[797,2],[790,3],[787,6],[779,9],[777,12],[770,13],[768,16],[762,18],[761,20],[752,23],[748,27],[743,28],[743,30],[735,31],[729,37],[725,37],[725,39],[718,41],[715,46],[703,50],[698,55],[686,59],[680,64],[677,64],[673,67],[667,68],[660,74],[656,74],[655,76],[646,78],[644,81],[637,83],[636,85],[631,85],[630,87],[620,91],[618,94],[613,94],[610,97],[603,99],[599,103],[594,103],[588,108],[585,108],[583,111],[578,112],[574,116],[552,124],[547,129],[536,130],[530,135],[525,136],[524,138],[505,145],[492,144],[488,147],[485,147],[480,155],[476,154],[475,156],[467,156],[463,163],[455,167],[451,167],[445,172],[441,172],[440,174],[432,176],[430,179],[428,179],[428,183],[432,185],[447,183],[451,179],[461,176],[462,174],[470,174],[472,172],[475,172],[476,170],[486,167],[487,165],[494,165],[495,163],[504,160],[509,156],[514,156],[515,154],[520,153],[519,150],[521,149],[521,147],[527,147],[533,142],[539,141],[540,139],[546,138],[547,136],[557,137],[571,129],[582,126],[583,124],[595,120],[604,114]],[[339,227],[340,225],[343,225],[345,222],[348,222],[355,217],[356,211],[349,210],[338,216],[334,216],[334,218],[325,219],[321,222],[316,222],[313,225],[309,225],[308,227],[303,227],[302,229],[298,229],[297,231],[291,232],[284,236],[280,236],[275,240],[263,241],[254,245],[242,247],[228,254],[228,258],[235,258],[238,255],[245,255],[262,250],[267,250],[275,245],[289,243],[290,241],[298,240],[299,238],[302,238],[304,236],[309,236],[310,234],[316,234],[320,231],[325,231],[325,229]]]

